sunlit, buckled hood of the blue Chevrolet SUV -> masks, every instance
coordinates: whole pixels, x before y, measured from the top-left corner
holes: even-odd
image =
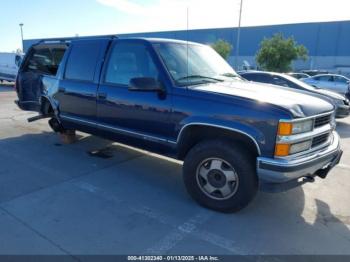
[[[295,118],[314,116],[334,110],[333,105],[323,99],[269,84],[225,81],[191,88],[201,92],[235,96],[273,104],[287,109]]]

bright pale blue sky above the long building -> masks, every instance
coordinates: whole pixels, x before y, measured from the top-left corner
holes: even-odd
[[[243,0],[242,26],[350,20],[350,0]],[[0,0],[0,52],[24,38],[118,34],[238,24],[240,0]],[[350,39],[350,36],[349,36]]]

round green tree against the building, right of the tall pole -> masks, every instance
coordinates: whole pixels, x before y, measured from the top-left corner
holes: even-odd
[[[260,50],[256,54],[258,65],[267,71],[288,72],[292,61],[308,57],[308,50],[303,45],[298,45],[293,37],[284,38],[282,33],[277,33],[271,38],[264,38],[260,43]]]

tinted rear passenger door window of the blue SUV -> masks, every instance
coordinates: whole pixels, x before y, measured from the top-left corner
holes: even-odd
[[[92,82],[99,53],[100,41],[80,40],[73,43],[66,65],[65,78]]]

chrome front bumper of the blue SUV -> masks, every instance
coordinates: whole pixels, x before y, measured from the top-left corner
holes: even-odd
[[[342,156],[340,139],[333,132],[332,143],[317,152],[295,159],[257,158],[257,174],[262,183],[282,184],[303,177],[325,177]]]

